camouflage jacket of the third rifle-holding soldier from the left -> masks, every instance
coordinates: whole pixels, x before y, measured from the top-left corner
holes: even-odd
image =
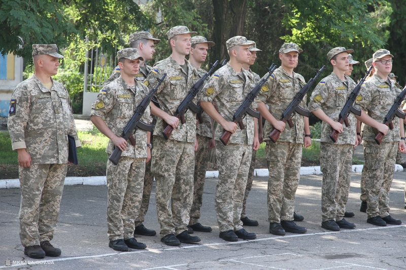
[[[232,121],[236,110],[255,87],[253,74],[243,68],[242,72],[245,78],[241,78],[227,63],[211,76],[209,82],[202,89],[200,101],[216,103],[218,112],[226,121]],[[256,108],[257,103],[253,102],[251,106]],[[247,114],[243,118],[243,124],[245,129],[238,128],[231,135],[230,143],[251,145],[254,142],[254,118]],[[223,133],[223,127],[217,125],[215,139],[219,140]]]

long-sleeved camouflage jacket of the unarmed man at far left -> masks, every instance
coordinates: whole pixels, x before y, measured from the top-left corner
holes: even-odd
[[[66,88],[54,80],[51,90],[35,74],[14,90],[8,129],[13,150],[26,148],[32,164],[67,163],[67,134],[81,143]]]

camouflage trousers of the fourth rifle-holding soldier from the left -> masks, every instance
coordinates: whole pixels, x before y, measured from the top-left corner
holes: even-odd
[[[301,143],[267,142],[268,164],[268,221],[292,221],[296,189],[299,185],[302,156]]]

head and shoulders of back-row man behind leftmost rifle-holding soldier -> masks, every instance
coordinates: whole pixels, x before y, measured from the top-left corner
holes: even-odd
[[[135,32],[130,34],[128,43],[131,48],[136,48],[138,50],[138,54],[144,59],[140,62],[140,71],[135,76],[136,80],[140,83],[143,83],[149,71],[151,70],[151,66],[147,65],[146,62],[152,60],[152,56],[155,53],[154,45],[158,44],[161,40],[158,38],[154,38],[150,32],[141,31]],[[120,76],[121,69],[117,65],[113,72],[110,75],[110,78],[107,79],[104,84],[110,84]],[[149,203],[149,201],[148,201]],[[148,208],[147,208],[148,210]]]

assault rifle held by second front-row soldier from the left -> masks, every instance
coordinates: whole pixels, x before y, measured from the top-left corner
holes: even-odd
[[[186,98],[182,101],[182,103],[176,109],[175,117],[180,119],[182,124],[186,123],[185,112],[187,111],[187,109],[191,109],[194,113],[196,113],[199,123],[203,123],[203,119],[201,118],[202,109],[201,109],[200,105],[196,105],[193,103],[193,99],[199,93],[200,88],[204,85],[206,79],[208,78],[208,76],[210,76],[210,74],[213,72],[214,68],[217,66],[218,63],[219,63],[219,61],[217,60],[212,65],[212,68],[208,72],[206,72],[204,75],[201,76],[201,78],[189,90],[189,93],[187,94]],[[166,128],[162,131],[163,137],[166,140],[169,139],[173,130],[174,129],[172,128],[171,125],[167,125]]]

